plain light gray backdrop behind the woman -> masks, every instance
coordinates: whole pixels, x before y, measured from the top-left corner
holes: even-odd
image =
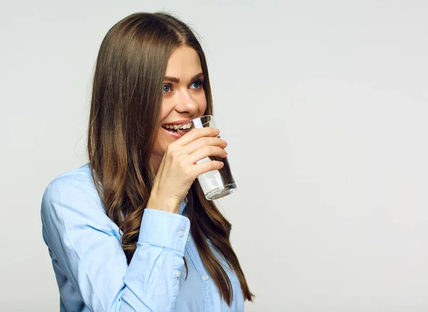
[[[245,311],[428,311],[427,1],[1,1],[0,311],[58,311],[41,195],[86,162],[103,36],[203,37]]]

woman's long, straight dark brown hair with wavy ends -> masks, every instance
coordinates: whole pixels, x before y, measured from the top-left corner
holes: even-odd
[[[108,31],[98,52],[88,156],[106,213],[121,229],[128,264],[136,250],[141,218],[155,178],[149,160],[159,127],[168,58],[179,46],[194,48],[200,57],[207,100],[205,114],[212,114],[205,54],[190,27],[174,16],[164,12],[127,16]],[[213,201],[205,199],[198,180],[190,188],[187,199],[190,233],[220,295],[231,303],[230,280],[210,245],[237,274],[244,298],[253,301],[230,245],[230,222]]]

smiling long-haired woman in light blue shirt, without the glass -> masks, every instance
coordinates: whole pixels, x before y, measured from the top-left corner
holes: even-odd
[[[96,61],[88,164],[57,177],[41,204],[61,311],[243,311],[252,301],[231,225],[196,177],[222,162],[213,128],[164,126],[213,112],[205,55],[164,13],[126,17]]]

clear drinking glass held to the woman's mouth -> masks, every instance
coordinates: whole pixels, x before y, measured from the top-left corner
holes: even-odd
[[[183,129],[178,129],[178,135],[182,137],[187,132],[195,128],[204,128],[204,127],[215,127],[214,116],[205,115],[193,120],[190,120],[189,123],[181,125]],[[220,135],[218,135],[220,137]],[[210,172],[205,172],[198,177],[198,182],[200,187],[202,187],[206,199],[213,200],[225,197],[229,194],[232,194],[236,190],[236,183],[233,179],[232,172],[230,172],[230,165],[228,162],[228,157],[221,158],[217,156],[205,157],[203,160],[198,160],[197,164],[202,162],[210,162],[212,160],[217,160],[223,162],[224,166],[220,170],[213,170]]]

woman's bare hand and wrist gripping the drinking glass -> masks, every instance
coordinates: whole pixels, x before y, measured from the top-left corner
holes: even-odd
[[[217,137],[218,133],[215,128],[196,128],[170,143],[153,182],[148,208],[178,213],[193,181],[223,167],[223,162],[215,160],[196,164],[205,157],[228,155],[224,150],[228,143]]]

